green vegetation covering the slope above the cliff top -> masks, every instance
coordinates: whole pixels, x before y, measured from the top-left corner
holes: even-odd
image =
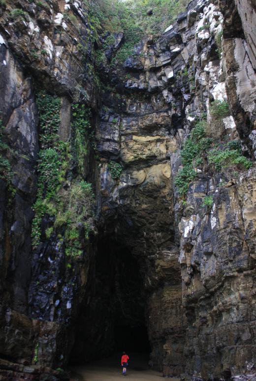
[[[118,50],[116,60],[124,63],[133,54],[136,45],[145,33],[159,34],[185,10],[188,0],[94,0],[87,5],[91,28],[95,39],[99,34],[124,32],[125,41]],[[88,4],[87,2],[85,4]],[[149,15],[149,10],[152,10]],[[102,48],[114,43],[109,35]],[[104,62],[102,55],[97,53],[96,63]]]

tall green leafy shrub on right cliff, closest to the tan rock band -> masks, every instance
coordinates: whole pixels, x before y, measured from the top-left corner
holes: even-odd
[[[179,170],[174,179],[174,184],[181,196],[187,193],[190,183],[196,177],[194,167],[202,163],[202,155],[211,147],[212,140],[206,137],[205,126],[205,120],[196,123],[181,151],[183,168]]]

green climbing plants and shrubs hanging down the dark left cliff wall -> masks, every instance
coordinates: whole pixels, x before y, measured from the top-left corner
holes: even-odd
[[[41,240],[42,218],[48,214],[55,216],[53,226],[45,230],[50,238],[57,229],[62,231],[60,240],[65,242],[65,254],[78,256],[83,253],[83,238],[88,239],[93,228],[94,194],[92,185],[85,181],[72,180],[66,187],[67,170],[72,159],[70,144],[58,138],[60,125],[59,98],[40,91],[37,94],[40,121],[41,150],[38,158],[38,190],[33,205],[32,245],[35,248]],[[87,154],[86,133],[90,128],[84,105],[72,105],[75,161],[78,174],[84,174],[84,160]],[[64,234],[64,236],[63,236]],[[83,234],[83,236],[82,236]]]

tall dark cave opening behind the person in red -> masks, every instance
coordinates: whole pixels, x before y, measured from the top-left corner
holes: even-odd
[[[131,248],[99,239],[88,300],[81,308],[71,364],[123,351],[150,353],[146,293],[140,264]]]

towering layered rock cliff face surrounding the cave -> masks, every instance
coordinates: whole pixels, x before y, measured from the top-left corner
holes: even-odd
[[[39,379],[70,357],[83,362],[107,355],[118,347],[115,332],[144,325],[151,363],[164,376],[253,373],[254,5],[193,0],[160,38],[145,36],[113,68],[107,62],[123,41],[115,35],[99,75],[116,88],[103,93],[92,73],[98,46],[82,3],[9,1],[5,7],[0,109],[8,147],[1,150],[11,170],[0,178],[3,377],[18,379],[24,364],[33,364],[31,379]],[[70,142],[70,152],[81,151],[77,114],[82,105],[91,109],[95,137],[83,141],[82,165],[79,157],[61,156],[68,163],[59,167],[64,180],[56,191],[63,197],[77,181],[94,185],[94,228],[85,239],[81,222],[76,256],[70,256],[69,242],[77,241],[66,233],[68,223],[55,223],[56,205],[42,214],[39,241],[32,244],[37,159],[45,144],[36,106],[41,88],[60,102],[57,135]],[[199,121],[210,140],[201,153],[190,151],[192,172],[181,192],[177,175],[182,166],[191,168],[186,142]]]

